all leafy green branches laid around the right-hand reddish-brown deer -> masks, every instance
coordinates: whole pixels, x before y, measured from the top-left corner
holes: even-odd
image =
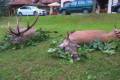
[[[52,41],[48,53],[52,56],[63,58],[71,61],[72,57],[69,52],[64,52],[62,49],[58,48],[61,41]],[[89,44],[81,44],[78,48],[78,53],[81,57],[87,57],[86,54],[93,51],[101,51],[108,55],[113,55],[120,52],[120,40],[114,40],[109,42],[101,42],[100,40],[95,40]]]

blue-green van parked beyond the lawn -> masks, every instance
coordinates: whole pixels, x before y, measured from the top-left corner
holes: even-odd
[[[71,14],[71,13],[89,13],[92,12],[93,9],[93,0],[76,0],[72,2],[68,2],[64,4],[62,8],[60,8],[60,13],[62,14]]]

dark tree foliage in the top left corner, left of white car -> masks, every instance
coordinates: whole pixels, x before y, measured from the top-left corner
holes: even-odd
[[[0,0],[0,16],[6,14],[9,0]]]

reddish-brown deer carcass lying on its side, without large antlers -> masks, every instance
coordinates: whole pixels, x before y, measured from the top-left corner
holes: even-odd
[[[65,51],[69,51],[73,59],[78,60],[77,48],[79,45],[82,43],[90,43],[96,39],[103,42],[120,39],[120,30],[115,29],[112,32],[105,32],[102,30],[74,31],[67,35],[59,47]]]

